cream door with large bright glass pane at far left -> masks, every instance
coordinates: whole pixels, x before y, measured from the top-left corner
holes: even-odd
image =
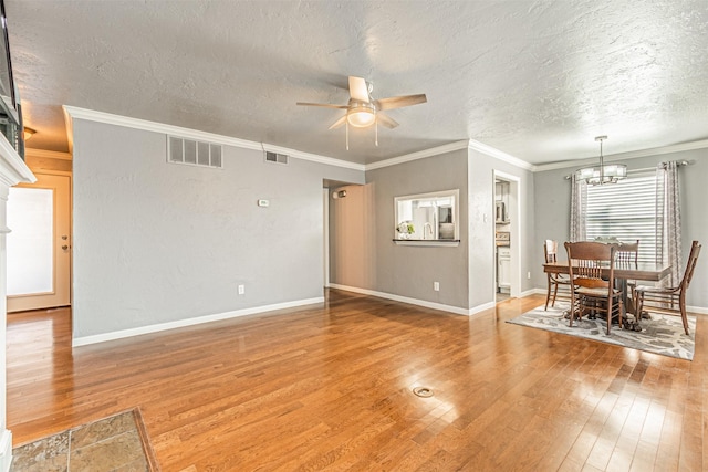
[[[8,313],[71,304],[71,177],[10,188]]]

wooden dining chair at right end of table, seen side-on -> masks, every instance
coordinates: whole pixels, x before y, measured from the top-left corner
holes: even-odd
[[[681,316],[681,321],[684,322],[684,331],[686,332],[686,335],[688,335],[686,292],[688,291],[688,285],[690,285],[690,280],[694,276],[694,270],[696,269],[696,262],[698,262],[700,248],[701,244],[698,241],[694,241],[691,243],[690,253],[688,254],[688,263],[684,271],[684,277],[677,286],[660,287],[638,285],[634,289],[637,316],[639,316],[643,311],[678,314]]]

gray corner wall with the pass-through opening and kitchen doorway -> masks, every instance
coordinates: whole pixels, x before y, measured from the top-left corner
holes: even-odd
[[[519,180],[521,209],[513,238],[520,252],[519,272],[525,275],[535,263],[531,172],[461,149],[369,170],[364,188],[347,190],[346,199],[334,201],[330,207],[331,281],[465,310],[493,302],[494,170]],[[449,189],[460,190],[460,245],[394,244],[394,198]],[[365,214],[357,214],[358,209]],[[372,231],[361,231],[365,228]],[[440,283],[439,292],[433,290],[435,281]],[[519,292],[533,289],[525,276],[519,285]]]

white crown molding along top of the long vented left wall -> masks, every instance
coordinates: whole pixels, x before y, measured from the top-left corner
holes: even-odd
[[[79,108],[75,106],[63,105],[64,115],[66,116],[66,134],[70,137],[70,149],[73,148],[73,119],[85,119],[88,122],[104,123],[107,125],[123,126],[126,128],[140,129],[145,132],[160,133],[166,135],[179,136],[187,139],[205,140],[225,146],[233,146],[241,149],[252,150],[270,150],[273,153],[287,154],[298,159],[310,160],[329,166],[344,167],[364,171],[361,164],[350,162],[346,160],[335,159],[333,157],[320,156],[316,154],[302,153],[296,149],[285,147],[271,146],[264,143],[250,141],[230,136],[218,135],[215,133],[200,132],[197,129],[183,128],[181,126],[166,125],[164,123],[148,122],[146,119],[131,118],[127,116],[113,115],[111,113],[96,112],[93,109]]]

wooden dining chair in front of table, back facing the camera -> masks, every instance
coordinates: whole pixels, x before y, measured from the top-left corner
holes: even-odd
[[[570,326],[573,326],[575,314],[582,318],[587,313],[604,313],[607,318],[607,334],[614,316],[622,327],[623,293],[614,286],[617,244],[566,242],[565,251],[568,272],[574,285],[574,290],[571,290]]]

